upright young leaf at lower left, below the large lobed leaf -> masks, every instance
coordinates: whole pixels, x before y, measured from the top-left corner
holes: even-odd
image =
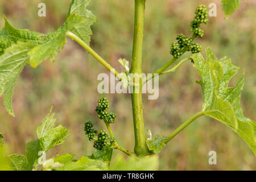
[[[28,159],[28,171],[37,169],[39,160],[43,154],[52,147],[63,143],[63,139],[69,135],[65,127],[61,125],[55,127],[56,119],[53,117],[54,113],[51,113],[50,110],[49,114],[43,119],[42,124],[36,130],[38,139],[27,143],[26,156]]]

